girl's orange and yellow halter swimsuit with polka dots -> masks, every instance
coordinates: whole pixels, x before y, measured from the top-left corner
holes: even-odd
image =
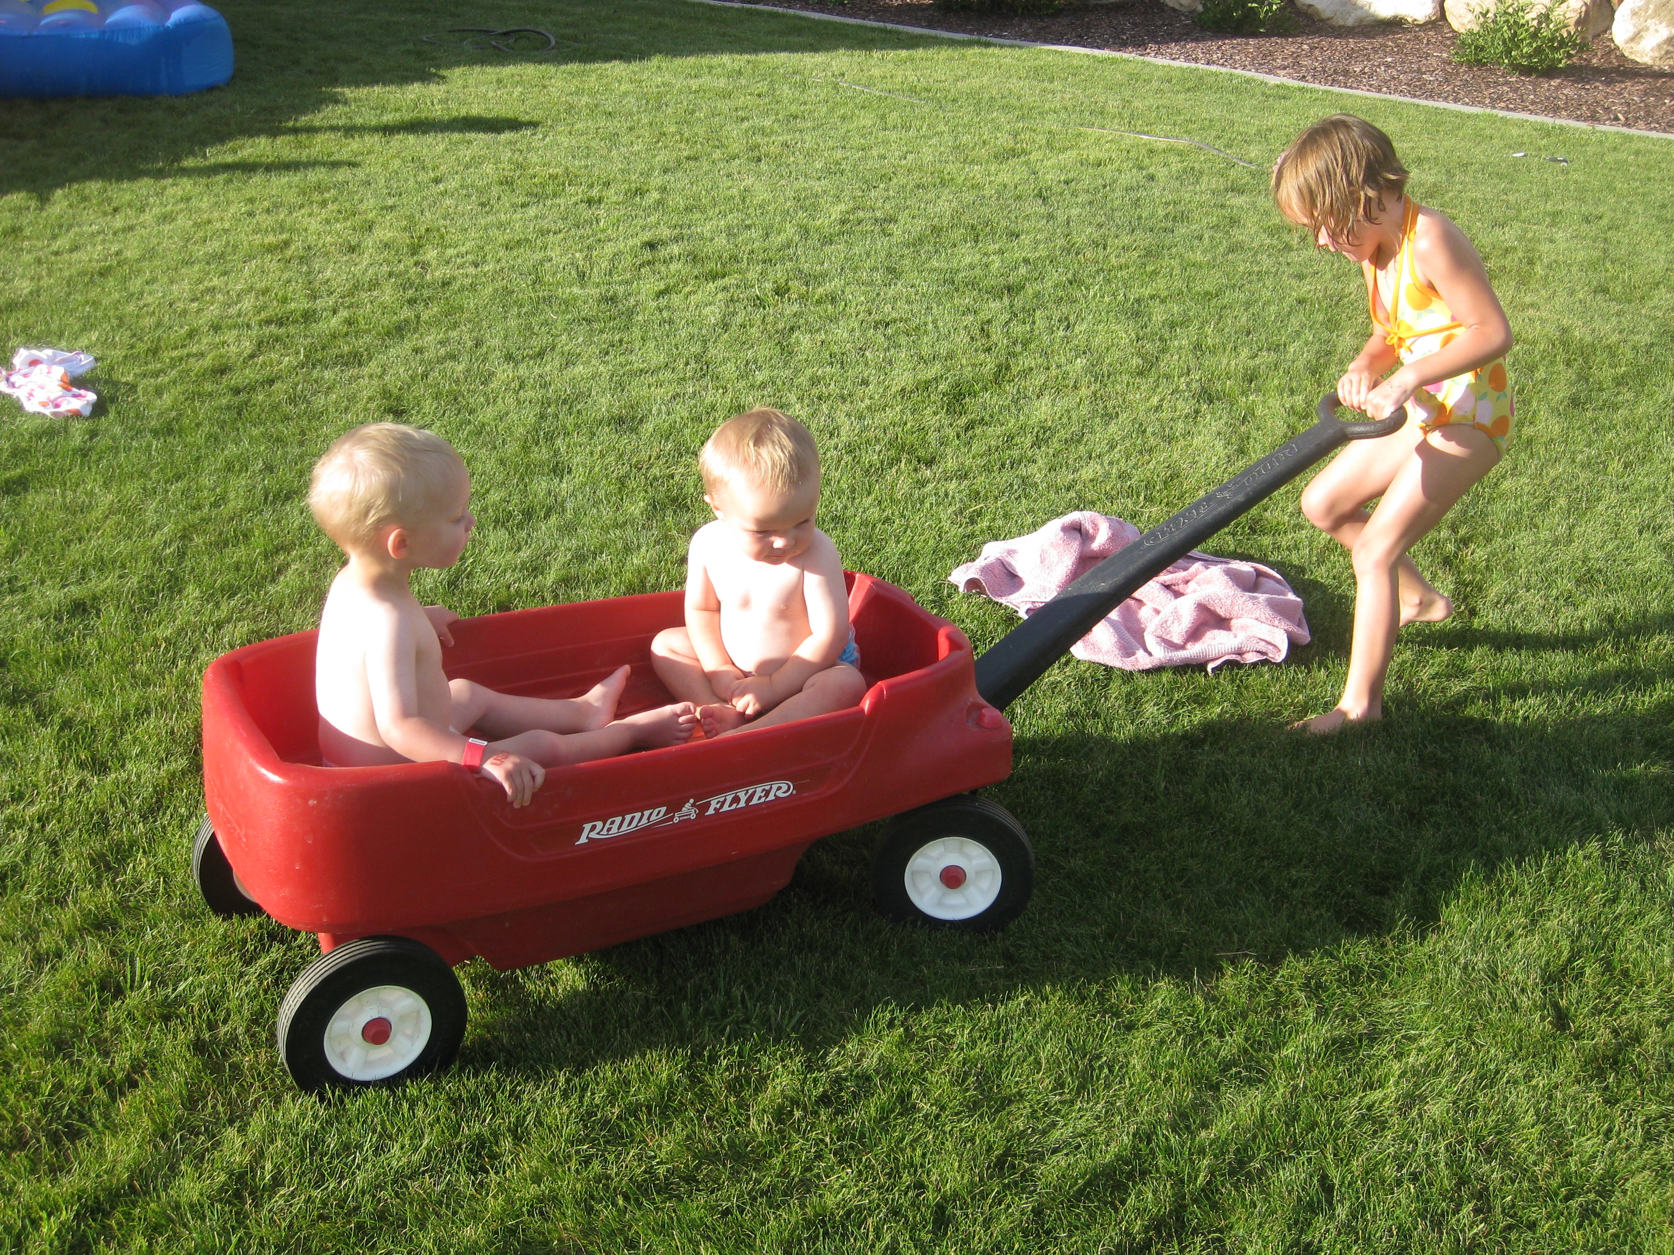
[[[1401,223],[1401,251],[1394,261],[1394,291],[1388,321],[1378,316],[1378,271],[1369,261],[1361,263],[1361,269],[1366,271],[1371,325],[1384,333],[1403,366],[1446,348],[1465,330],[1465,325],[1453,318],[1441,293],[1418,278],[1418,268],[1413,263],[1416,233],[1418,202],[1408,197],[1406,221]],[[1455,375],[1440,383],[1426,383],[1413,393],[1406,412],[1425,432],[1448,423],[1470,423],[1478,432],[1487,432],[1505,453],[1505,447],[1512,440],[1512,382],[1505,373],[1505,358],[1495,358],[1473,371]]]

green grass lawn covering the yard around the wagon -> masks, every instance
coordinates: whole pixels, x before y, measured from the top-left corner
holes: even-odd
[[[223,8],[226,89],[0,102],[0,350],[102,395],[0,413],[0,1247],[1674,1250],[1674,147],[680,0]],[[564,42],[420,42],[485,23]],[[203,668],[333,571],[328,440],[454,440],[480,525],[420,592],[482,614],[678,586],[698,445],[778,405],[847,562],[981,646],[1009,612],[944,577],[983,540],[1158,522],[1366,335],[1262,172],[1078,127],[1266,167],[1339,109],[1520,341],[1384,725],[1282,731],[1353,599],[1289,489],[1210,549],[1314,644],[1013,708],[1008,932],[887,925],[845,833],[747,915],[467,964],[442,1078],[293,1089],[315,942],[213,919],[187,843]]]

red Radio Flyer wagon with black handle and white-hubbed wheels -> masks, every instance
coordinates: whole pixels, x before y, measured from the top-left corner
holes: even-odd
[[[303,1088],[360,1086],[452,1061],[465,1032],[454,964],[524,967],[748,910],[820,837],[894,817],[872,889],[899,920],[989,930],[1030,899],[1021,825],[976,790],[1011,773],[1001,711],[1140,584],[1348,440],[1336,397],[1309,430],[1078,579],[983,658],[901,589],[850,576],[870,681],[852,709],[554,768],[512,808],[455,763],[326,768],[315,633],[244,646],[204,673],[204,818],[193,870],[221,915],[315,932],[321,957],[280,1007]],[[571,696],[623,663],[623,711],[668,699],[650,644],[680,592],[455,622],[447,673]]]

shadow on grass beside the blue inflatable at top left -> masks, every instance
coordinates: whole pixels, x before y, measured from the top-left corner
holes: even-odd
[[[176,171],[181,161],[238,139],[298,132],[382,134],[390,139],[501,136],[537,126],[516,117],[475,115],[422,117],[383,126],[296,126],[298,119],[338,104],[348,89],[442,85],[449,72],[475,65],[541,65],[551,74],[562,74],[569,65],[650,57],[942,44],[688,0],[621,0],[561,10],[531,0],[507,0],[492,13],[482,10],[480,20],[544,27],[562,37],[564,42],[552,52],[532,55],[425,44],[424,35],[460,23],[462,10],[444,0],[365,0],[330,8],[218,0],[218,7],[233,27],[238,59],[226,87],[156,99],[7,100],[0,110],[0,196],[25,192],[47,197],[84,181],[264,169],[261,162],[228,162]],[[447,104],[439,100],[435,107],[445,110]]]

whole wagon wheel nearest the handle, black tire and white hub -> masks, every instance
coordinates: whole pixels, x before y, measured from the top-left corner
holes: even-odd
[[[968,932],[1006,927],[1035,892],[1035,850],[1011,813],[963,795],[897,815],[872,855],[877,909]]]

